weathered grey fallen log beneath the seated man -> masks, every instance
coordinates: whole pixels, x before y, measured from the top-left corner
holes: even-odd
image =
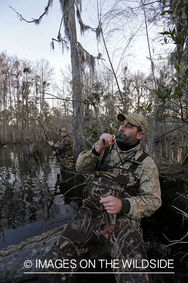
[[[38,236],[0,250],[0,283],[16,283],[37,276],[36,260],[43,262],[45,255],[66,224]],[[84,256],[86,260],[109,258],[105,246],[96,243]],[[32,266],[29,267],[29,265]],[[25,267],[25,265],[28,267]]]

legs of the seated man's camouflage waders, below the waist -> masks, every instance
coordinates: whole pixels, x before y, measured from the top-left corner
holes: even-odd
[[[51,260],[49,268],[43,268],[39,274],[41,283],[71,282],[72,273],[76,272],[84,253],[94,247],[95,242],[104,243],[112,259],[117,260],[117,268],[113,268],[117,283],[151,283],[148,268],[142,267],[142,259],[147,255],[142,238],[142,230],[138,219],[124,217],[118,214],[116,222],[110,222],[110,214],[94,211],[82,206],[75,217],[66,225],[55,244],[47,254],[47,262]],[[67,268],[55,267],[56,260],[69,260]],[[75,259],[72,263],[70,260]],[[123,266],[128,260],[129,266]],[[132,262],[131,262],[132,260]],[[133,264],[134,260],[134,264]],[[137,263],[136,261],[137,260]],[[109,261],[108,261],[109,262]],[[73,263],[76,263],[76,268]],[[130,264],[131,263],[131,264]],[[137,268],[136,268],[137,264]],[[53,268],[53,266],[55,268]],[[118,268],[119,267],[119,268]],[[44,274],[44,272],[46,272]],[[54,272],[56,274],[54,274]],[[58,272],[58,273],[57,273]],[[70,272],[67,274],[65,272]],[[104,272],[104,269],[102,269]],[[122,272],[122,273],[121,273]],[[135,273],[126,273],[135,272]],[[143,273],[141,273],[143,272]]]

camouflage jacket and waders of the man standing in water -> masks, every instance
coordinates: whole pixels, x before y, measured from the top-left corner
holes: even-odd
[[[63,136],[56,144],[52,145],[53,150],[57,150],[60,159],[60,168],[73,171],[74,170],[74,155],[73,141],[69,135]]]

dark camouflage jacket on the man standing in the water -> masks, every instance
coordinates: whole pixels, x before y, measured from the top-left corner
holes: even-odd
[[[52,145],[53,150],[57,151],[59,158],[73,158],[73,141],[69,135],[63,136],[56,144]]]

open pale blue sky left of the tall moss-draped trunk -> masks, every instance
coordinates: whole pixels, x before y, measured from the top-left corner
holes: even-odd
[[[44,12],[47,0],[0,0],[0,51],[7,50],[12,55],[17,53],[18,57],[28,59],[39,59],[41,57],[50,61],[55,66],[56,72],[60,67],[70,63],[70,56],[65,52],[62,57],[61,47],[55,44],[55,52],[50,52],[52,37],[57,38],[60,27],[61,13],[60,3],[54,0],[51,12],[44,16],[40,25],[20,21],[16,13],[9,8],[10,5],[27,20],[39,18]]]

